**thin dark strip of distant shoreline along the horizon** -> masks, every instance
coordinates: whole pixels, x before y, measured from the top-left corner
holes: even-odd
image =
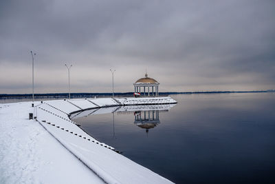
[[[254,93],[254,92],[275,92],[275,90],[255,90],[255,91],[209,91],[209,92],[159,92],[159,96],[169,95],[169,94],[217,94],[217,93]],[[115,92],[115,96],[133,96],[133,92]],[[62,98],[67,97],[68,93],[45,93],[45,94],[34,94],[36,98]],[[102,93],[88,93],[88,92],[78,92],[71,93],[72,98],[78,97],[94,97],[94,96],[112,96],[111,92]],[[0,99],[6,98],[32,98],[32,94],[0,94]]]

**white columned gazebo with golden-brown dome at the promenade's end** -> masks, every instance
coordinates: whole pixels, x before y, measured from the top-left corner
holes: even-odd
[[[147,73],[144,78],[138,79],[135,83],[133,83],[133,86],[135,88],[135,92],[140,92],[140,95],[159,95],[159,83],[155,79],[149,78]]]

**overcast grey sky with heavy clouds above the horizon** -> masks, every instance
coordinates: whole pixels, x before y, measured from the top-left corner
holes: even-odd
[[[275,1],[0,1],[0,94],[275,88]]]

